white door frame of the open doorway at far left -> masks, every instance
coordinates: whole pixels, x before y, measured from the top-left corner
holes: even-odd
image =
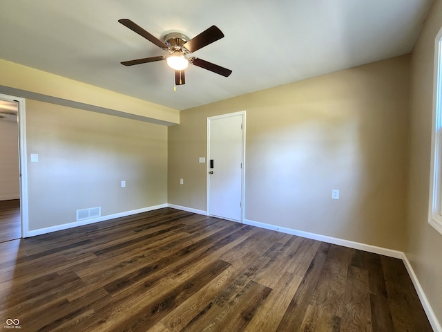
[[[21,237],[29,235],[28,219],[28,160],[26,153],[26,100],[12,95],[0,93],[0,99],[8,102],[17,102],[19,106],[19,172],[20,172],[20,217]]]

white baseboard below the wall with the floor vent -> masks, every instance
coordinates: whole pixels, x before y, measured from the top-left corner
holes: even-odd
[[[28,232],[26,232],[26,231],[23,232],[23,237],[35,237],[36,235],[57,232],[58,230],[67,230],[68,228],[74,228],[74,227],[83,226],[83,225],[90,225],[91,223],[99,223],[100,221],[121,218],[122,216],[131,216],[132,214],[138,214],[138,213],[153,211],[153,210],[157,210],[157,209],[161,209],[161,208],[167,208],[167,206],[168,206],[167,204],[154,205],[154,206],[149,206],[148,208],[142,208],[142,209],[137,209],[137,210],[109,214],[107,216],[99,216],[98,218],[75,221],[73,223],[64,223],[61,225],[55,225],[55,226],[50,226],[50,227],[46,227],[46,228],[39,228],[38,230],[28,230]]]

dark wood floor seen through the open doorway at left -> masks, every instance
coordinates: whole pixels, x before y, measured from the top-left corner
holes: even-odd
[[[0,242],[20,237],[20,200],[0,201]]]

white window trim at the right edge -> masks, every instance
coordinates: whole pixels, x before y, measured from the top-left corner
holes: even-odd
[[[428,223],[442,234],[442,28],[434,41],[433,114]]]

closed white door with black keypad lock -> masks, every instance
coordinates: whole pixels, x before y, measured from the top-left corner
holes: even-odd
[[[244,111],[207,118],[207,211],[233,221],[242,221],[244,120]]]

